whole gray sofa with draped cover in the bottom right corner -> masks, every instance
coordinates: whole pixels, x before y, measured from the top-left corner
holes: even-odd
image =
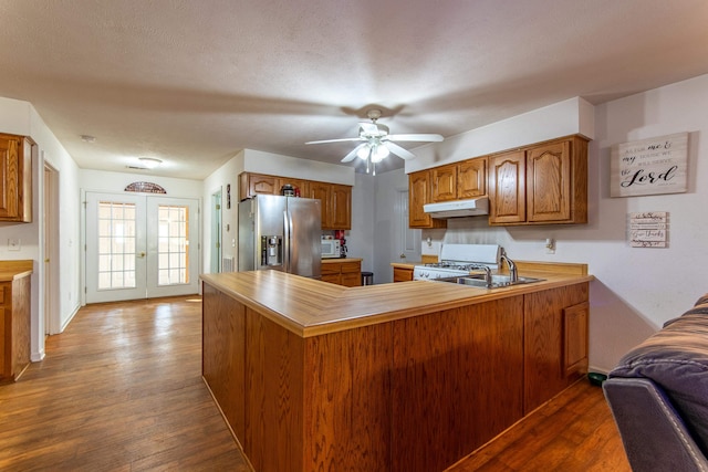
[[[708,472],[708,294],[603,384],[633,471]]]

